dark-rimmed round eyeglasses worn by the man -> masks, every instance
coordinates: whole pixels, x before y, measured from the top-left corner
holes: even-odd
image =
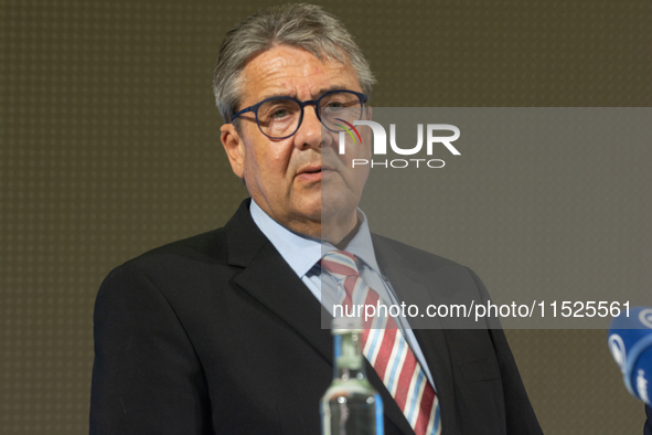
[[[286,139],[297,132],[303,120],[303,107],[314,106],[320,123],[331,131],[345,130],[342,124],[362,119],[364,104],[368,96],[354,91],[330,91],[318,99],[300,102],[292,97],[271,97],[242,109],[253,112],[260,131],[270,139]]]

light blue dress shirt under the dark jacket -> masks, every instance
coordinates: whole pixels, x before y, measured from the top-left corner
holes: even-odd
[[[303,284],[306,284],[308,289],[312,291],[317,300],[319,300],[332,315],[333,306],[340,304],[338,284],[335,278],[329,274],[323,274],[322,276],[321,266],[318,262],[328,252],[336,251],[336,247],[330,243],[295,233],[286,229],[265,213],[254,200],[252,200],[249,211],[254,222],[258,225],[263,234],[269,238],[284,259],[290,265],[292,270],[295,270],[297,276],[303,282]],[[386,278],[383,278],[383,275],[380,272],[366,215],[360,209],[357,209],[357,212],[359,219],[362,220],[362,223],[357,230],[357,234],[355,234],[346,246],[346,252],[355,255],[360,276],[378,294],[381,299],[384,300],[385,304],[398,305],[399,301],[392,289],[392,285]],[[399,317],[398,321],[407,343],[421,364],[428,381],[430,381],[430,384],[435,388],[435,391],[437,391],[435,382],[432,382],[430,370],[426,364],[426,359],[424,358],[424,353],[421,352],[421,348],[419,347],[413,330],[409,329],[409,325],[405,318]]]

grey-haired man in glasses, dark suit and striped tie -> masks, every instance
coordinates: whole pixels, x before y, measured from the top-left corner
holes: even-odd
[[[215,94],[222,142],[252,199],[223,229],[153,250],[105,279],[93,434],[319,433],[333,363],[320,325],[329,316],[321,238],[354,254],[367,285],[389,300],[488,299],[470,269],[368,232],[357,209],[368,170],[351,162],[370,147],[339,155],[336,131],[322,125],[333,127],[331,109],[366,116],[372,84],[352,36],[320,8],[272,8],[229,32]],[[438,397],[432,433],[542,433],[500,329],[402,333]],[[366,362],[366,372],[383,396],[385,433],[414,434],[375,367]]]

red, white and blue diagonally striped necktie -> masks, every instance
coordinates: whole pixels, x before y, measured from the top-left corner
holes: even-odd
[[[360,277],[353,254],[332,251],[321,259],[321,267],[344,289],[342,305],[350,308],[361,304],[376,307],[380,296]],[[383,380],[415,433],[441,434],[437,394],[403,332],[392,317],[376,318],[373,322],[376,328],[370,328],[370,322],[364,326],[362,353]]]

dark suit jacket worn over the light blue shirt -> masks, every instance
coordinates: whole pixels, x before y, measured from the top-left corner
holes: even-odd
[[[95,307],[92,434],[319,434],[332,380],[322,308],[258,230],[249,200],[223,229],[114,269]],[[385,237],[398,296],[487,298],[469,269]],[[448,296],[447,296],[448,295]],[[443,434],[541,434],[502,330],[415,330]],[[414,434],[374,370],[386,434]]]

